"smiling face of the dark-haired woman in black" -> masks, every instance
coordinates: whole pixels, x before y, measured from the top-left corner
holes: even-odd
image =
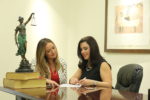
[[[81,55],[85,60],[88,60],[90,58],[90,46],[87,44],[87,42],[82,42],[80,44],[81,49]]]

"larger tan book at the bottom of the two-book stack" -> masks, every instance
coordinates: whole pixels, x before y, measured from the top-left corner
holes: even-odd
[[[14,89],[46,87],[46,79],[12,80],[4,78],[3,86]]]

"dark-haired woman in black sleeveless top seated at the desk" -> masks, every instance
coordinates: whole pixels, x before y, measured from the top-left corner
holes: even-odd
[[[99,47],[92,36],[82,38],[78,43],[79,64],[70,84],[83,86],[112,87],[111,66],[100,55]]]

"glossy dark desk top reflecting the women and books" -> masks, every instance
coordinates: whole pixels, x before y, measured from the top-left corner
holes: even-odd
[[[0,87],[0,91],[16,97],[27,98],[22,100],[148,100],[148,96],[144,94],[100,87],[17,90]]]

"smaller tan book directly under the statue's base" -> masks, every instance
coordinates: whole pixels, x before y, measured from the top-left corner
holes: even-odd
[[[37,79],[39,78],[39,76],[40,73],[38,72],[23,72],[23,73],[7,72],[6,73],[7,79],[14,79],[14,80]]]

